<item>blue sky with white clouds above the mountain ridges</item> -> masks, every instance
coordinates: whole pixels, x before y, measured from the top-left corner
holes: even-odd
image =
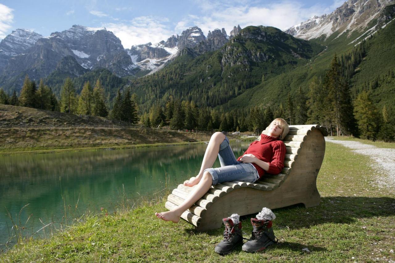
[[[0,0],[0,39],[24,28],[43,36],[73,24],[105,27],[124,48],[167,40],[190,26],[209,30],[233,26],[291,27],[328,14],[344,0]]]

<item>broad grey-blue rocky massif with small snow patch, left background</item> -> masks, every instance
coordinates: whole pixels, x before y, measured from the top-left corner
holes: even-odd
[[[24,72],[32,79],[40,79],[54,71],[65,56],[72,56],[83,68],[107,68],[118,76],[132,75],[136,68],[112,32],[74,25],[39,38],[24,54],[9,59],[2,75],[10,78]]]

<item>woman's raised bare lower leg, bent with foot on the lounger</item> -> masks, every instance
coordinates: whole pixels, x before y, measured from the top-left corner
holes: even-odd
[[[222,132],[217,131],[214,133],[207,145],[206,152],[204,153],[203,162],[201,163],[200,171],[196,177],[191,177],[189,180],[184,182],[185,186],[194,186],[198,184],[203,176],[203,172],[207,168],[213,167],[213,164],[218,156],[220,150],[220,144],[224,141],[225,135]],[[189,208],[189,207],[188,207]]]

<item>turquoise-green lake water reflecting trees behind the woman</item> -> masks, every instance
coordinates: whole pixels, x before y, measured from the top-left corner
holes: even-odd
[[[248,145],[231,144],[236,157]],[[7,210],[25,228],[23,235],[30,236],[51,222],[59,228],[59,222],[66,222],[65,207],[69,224],[87,211],[97,214],[101,208],[114,212],[123,205],[131,207],[141,197],[153,198],[166,186],[175,188],[196,175],[206,146],[0,157],[0,244],[15,235]],[[46,229],[48,234],[50,227]],[[34,236],[40,235],[42,230]]]

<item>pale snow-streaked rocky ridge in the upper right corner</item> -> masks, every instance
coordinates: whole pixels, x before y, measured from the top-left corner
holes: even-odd
[[[321,35],[328,38],[333,32],[339,35],[354,30],[363,30],[373,19],[380,16],[381,11],[394,0],[348,0],[329,15],[314,16],[300,24],[283,31],[292,36],[312,39]]]

